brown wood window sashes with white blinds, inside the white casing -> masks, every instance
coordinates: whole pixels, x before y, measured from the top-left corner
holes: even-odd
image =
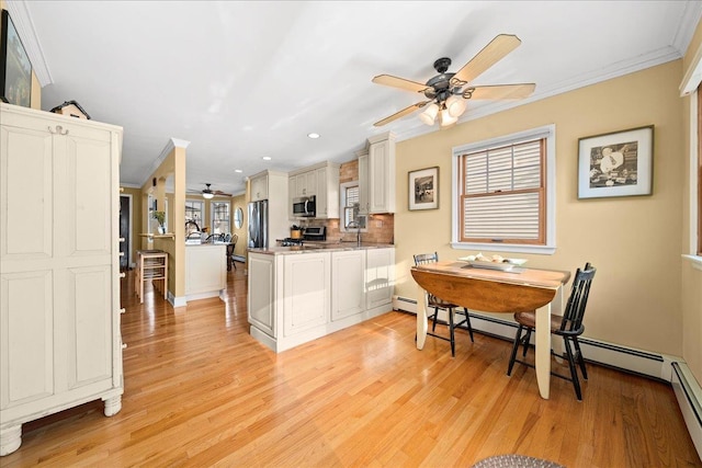
[[[461,156],[462,241],[543,243],[545,138]]]

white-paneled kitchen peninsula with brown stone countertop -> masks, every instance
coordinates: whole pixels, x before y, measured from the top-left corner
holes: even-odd
[[[248,267],[250,333],[275,352],[392,309],[392,244],[249,249]]]

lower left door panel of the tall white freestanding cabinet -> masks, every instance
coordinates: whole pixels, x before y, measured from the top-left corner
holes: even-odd
[[[50,271],[10,273],[0,281],[0,408],[54,392]]]

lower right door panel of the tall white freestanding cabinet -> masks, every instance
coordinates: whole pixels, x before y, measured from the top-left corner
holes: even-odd
[[[112,266],[70,269],[68,273],[68,387],[112,375]]]

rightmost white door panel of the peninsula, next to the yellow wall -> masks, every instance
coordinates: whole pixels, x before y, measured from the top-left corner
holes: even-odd
[[[393,303],[395,285],[395,249],[369,249],[365,258],[366,308]]]

